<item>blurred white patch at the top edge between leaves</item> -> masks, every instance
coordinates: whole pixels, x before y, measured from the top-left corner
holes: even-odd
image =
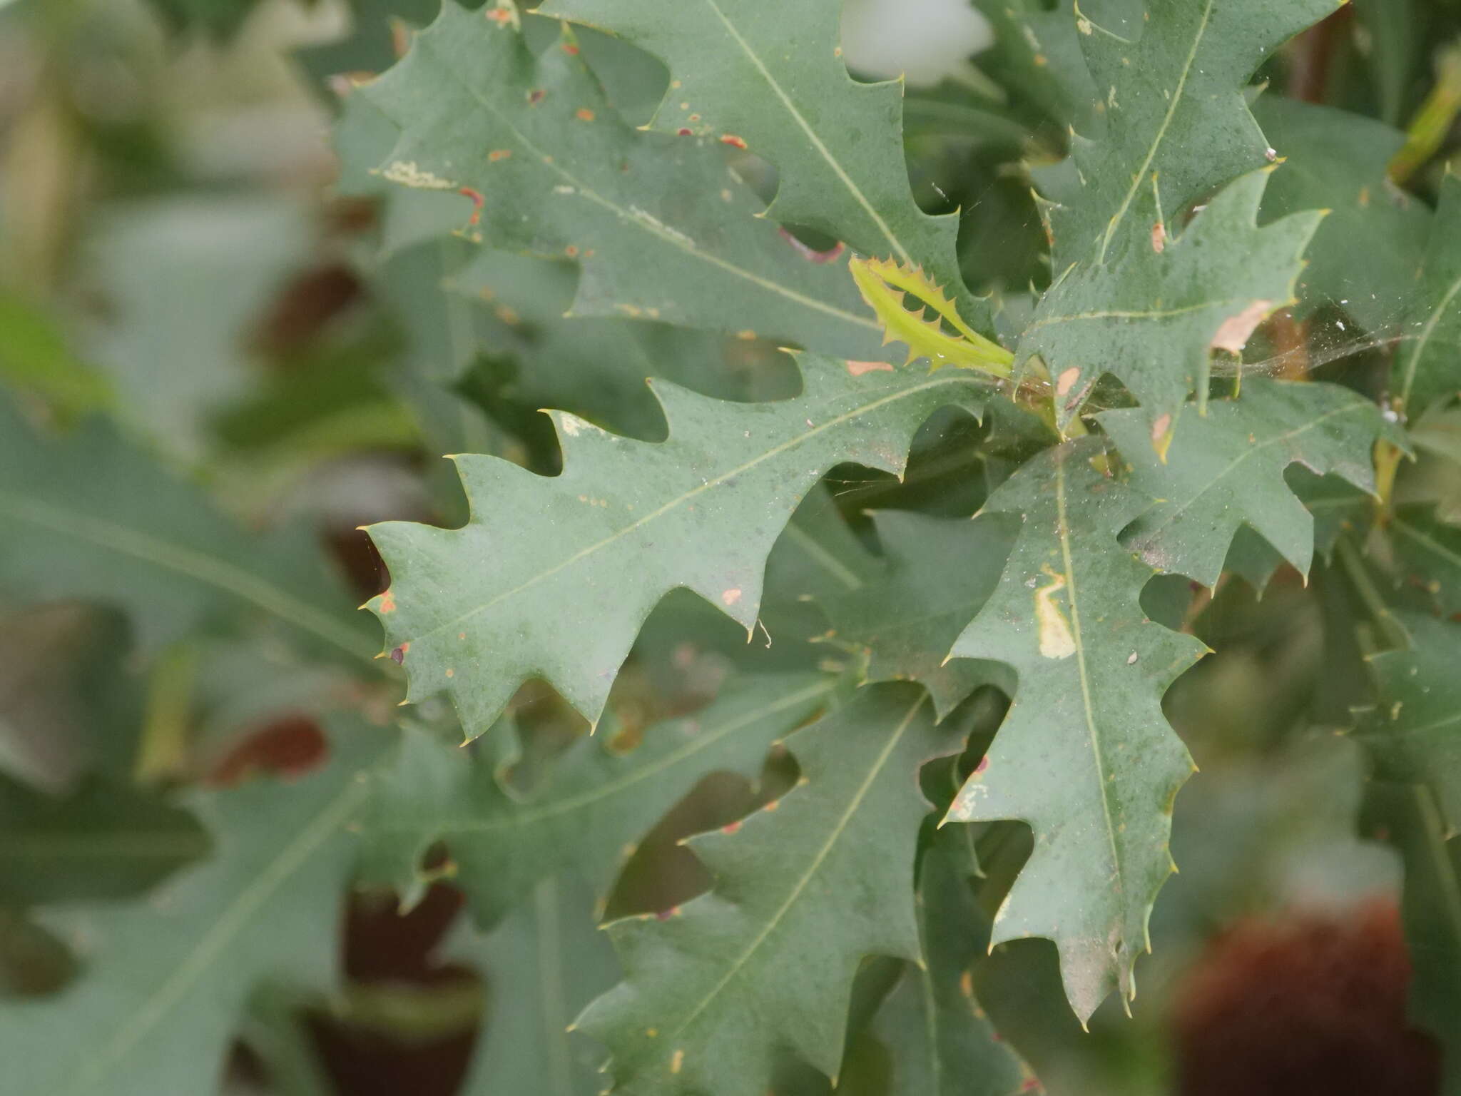
[[[847,66],[885,79],[903,73],[910,88],[938,83],[992,41],[969,0],[847,0],[842,13]]]

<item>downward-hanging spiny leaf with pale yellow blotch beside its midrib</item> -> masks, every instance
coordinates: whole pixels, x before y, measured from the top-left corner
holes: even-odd
[[[1116,535],[1148,501],[1096,472],[1099,454],[1091,440],[1049,450],[985,504],[1024,514],[1024,526],[953,653],[1005,662],[1018,688],[947,817],[1034,830],[992,941],[1053,940],[1083,1021],[1118,985],[1124,998],[1135,992],[1147,916],[1172,871],[1172,801],[1192,772],[1161,694],[1202,653],[1144,618],[1138,598],[1153,568]]]

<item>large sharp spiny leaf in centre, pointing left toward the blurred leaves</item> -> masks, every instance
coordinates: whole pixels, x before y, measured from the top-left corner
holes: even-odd
[[[891,367],[890,367],[891,368]],[[394,577],[368,602],[411,674],[446,690],[469,737],[519,684],[546,678],[590,722],[640,624],[684,586],[749,633],[767,552],[802,495],[844,460],[900,473],[938,406],[973,400],[970,374],[802,359],[801,396],[723,403],[655,383],[669,438],[643,443],[552,412],[564,472],[460,456],[462,529],[387,522],[370,533]]]

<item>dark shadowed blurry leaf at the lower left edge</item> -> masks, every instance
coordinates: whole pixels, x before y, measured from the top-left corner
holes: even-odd
[[[51,796],[0,776],[0,903],[130,897],[209,849],[197,818],[159,796],[89,779]]]

